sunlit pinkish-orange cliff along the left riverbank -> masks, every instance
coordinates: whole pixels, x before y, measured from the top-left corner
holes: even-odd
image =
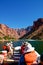
[[[4,24],[0,24],[0,37],[9,36],[11,38],[19,38],[15,29],[9,28]]]

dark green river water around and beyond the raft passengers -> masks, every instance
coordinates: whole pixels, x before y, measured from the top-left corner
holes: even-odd
[[[25,40],[25,41],[27,41],[27,40]],[[24,40],[13,42],[13,45],[14,45],[14,47],[15,46],[20,46],[22,44],[22,42],[24,42]],[[33,47],[35,47],[35,50],[37,52],[39,52],[40,54],[43,52],[43,41],[32,41],[32,40],[28,40],[28,42],[31,43]],[[0,42],[0,51],[2,50],[2,46],[4,44],[6,44],[6,43],[7,42],[3,42],[3,43]]]

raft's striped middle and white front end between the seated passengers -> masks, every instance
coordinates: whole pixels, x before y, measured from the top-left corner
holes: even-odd
[[[0,55],[1,55],[1,52],[0,52]],[[15,47],[12,58],[11,59],[8,58],[8,59],[4,60],[3,65],[18,65],[20,57],[21,57],[20,47],[17,46],[17,47]]]

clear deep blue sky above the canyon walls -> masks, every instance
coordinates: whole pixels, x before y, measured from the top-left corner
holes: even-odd
[[[0,23],[25,28],[43,18],[43,0],[0,0]]]

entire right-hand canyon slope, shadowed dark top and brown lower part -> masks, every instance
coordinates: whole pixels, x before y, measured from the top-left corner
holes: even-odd
[[[34,21],[30,31],[20,39],[43,39],[43,18]]]

